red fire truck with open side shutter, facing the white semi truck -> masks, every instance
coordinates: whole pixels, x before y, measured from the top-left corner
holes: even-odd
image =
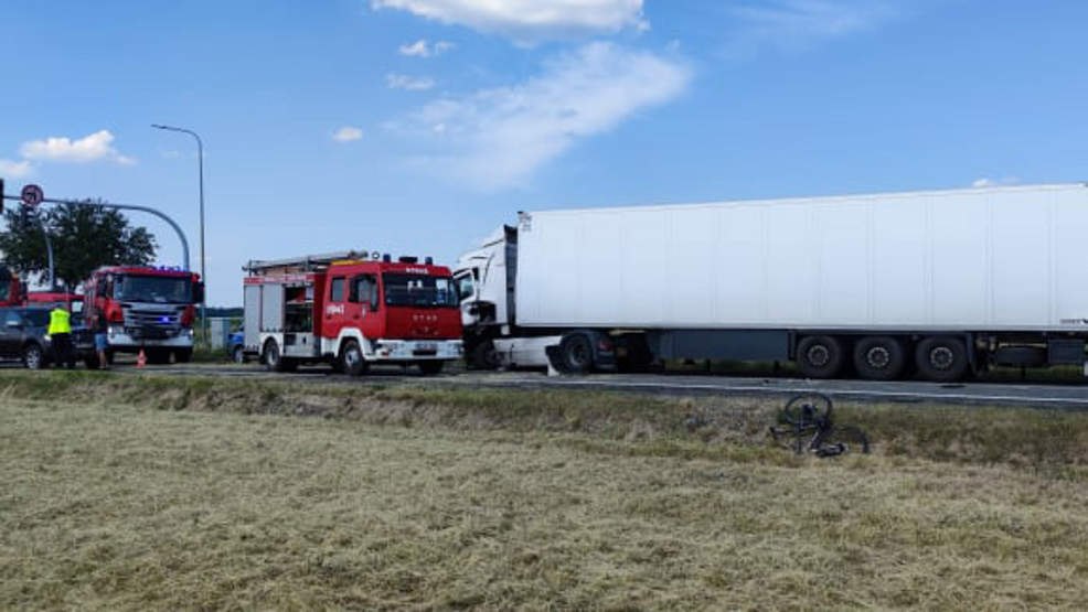
[[[274,372],[323,362],[355,376],[371,364],[437,374],[461,358],[454,280],[429,257],[348,251],[250,261],[246,270],[245,348]]]

